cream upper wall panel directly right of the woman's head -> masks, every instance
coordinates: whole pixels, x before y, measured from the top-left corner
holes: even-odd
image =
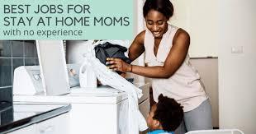
[[[174,15],[170,23],[187,30],[191,36],[192,58],[217,57],[217,1],[171,0]]]

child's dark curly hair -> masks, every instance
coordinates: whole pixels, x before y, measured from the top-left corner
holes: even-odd
[[[183,121],[183,106],[161,94],[153,118],[161,123],[164,131],[174,132]]]

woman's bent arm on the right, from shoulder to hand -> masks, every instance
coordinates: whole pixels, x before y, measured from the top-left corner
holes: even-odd
[[[173,38],[173,47],[168,53],[168,57],[164,62],[164,66],[157,67],[140,67],[127,64],[118,58],[108,58],[110,69],[121,72],[133,72],[140,76],[151,78],[168,78],[178,70],[186,58],[187,51],[190,44],[190,37],[185,30],[178,29]],[[161,53],[161,52],[158,52]]]

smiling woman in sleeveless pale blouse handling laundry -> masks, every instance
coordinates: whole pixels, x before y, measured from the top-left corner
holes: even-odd
[[[190,37],[185,30],[168,24],[173,4],[169,0],[146,0],[143,14],[147,29],[130,45],[129,58],[133,61],[145,52],[147,66],[107,58],[109,68],[150,77],[155,101],[163,94],[182,104],[184,119],[178,133],[211,129],[211,104],[187,54]]]

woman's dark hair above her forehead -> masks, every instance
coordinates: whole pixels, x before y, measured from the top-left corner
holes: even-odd
[[[151,9],[163,13],[167,19],[173,16],[174,9],[170,0],[146,0],[143,7],[143,16],[147,16]]]

